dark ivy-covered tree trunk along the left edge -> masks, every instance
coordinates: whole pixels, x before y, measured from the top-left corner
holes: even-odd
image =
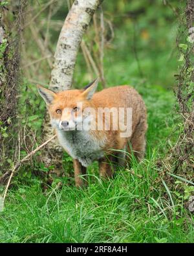
[[[1,1],[0,9],[0,160],[1,171],[5,172],[16,157],[19,133],[17,114],[17,89],[19,84],[19,38],[23,24],[26,1],[21,1],[17,10],[12,3]],[[17,4],[16,4],[17,6]],[[14,145],[14,146],[13,146]]]

